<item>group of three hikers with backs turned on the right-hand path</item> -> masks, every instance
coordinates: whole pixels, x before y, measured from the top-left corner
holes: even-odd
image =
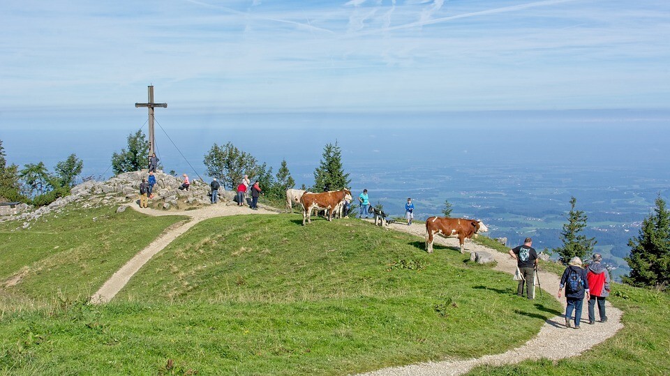
[[[516,259],[516,276],[519,286],[516,294],[523,296],[523,286],[526,285],[528,299],[534,299],[531,289],[535,286],[537,273],[537,252],[532,247],[533,239],[526,238],[523,246],[509,250],[509,255]],[[609,272],[602,264],[602,255],[594,253],[588,265],[583,266],[579,257],[572,257],[567,268],[560,277],[558,297],[560,298],[565,288],[565,327],[579,329],[581,324],[581,309],[583,300],[588,300],[588,323],[595,324],[595,306],[598,306],[600,322],[607,322],[605,313],[605,299],[610,291]],[[533,289],[533,292],[535,290]],[[573,316],[574,312],[574,316]]]

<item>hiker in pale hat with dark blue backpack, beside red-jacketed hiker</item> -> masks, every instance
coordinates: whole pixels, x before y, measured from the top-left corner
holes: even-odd
[[[565,308],[565,327],[570,327],[570,318],[574,310],[574,329],[579,329],[581,322],[581,307],[588,296],[588,283],[586,282],[586,269],[581,269],[581,259],[579,257],[572,257],[567,264],[567,268],[563,271],[563,276],[560,277],[560,286],[558,287],[558,297],[560,292],[565,287],[565,300],[567,301],[567,308]]]

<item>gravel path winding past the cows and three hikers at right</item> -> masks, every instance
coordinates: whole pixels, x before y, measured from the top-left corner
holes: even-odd
[[[423,239],[426,239],[426,225],[424,225],[424,223],[415,223],[410,226],[401,223],[392,223],[388,228],[421,236]],[[445,239],[441,236],[435,236],[435,243],[442,246],[452,247],[454,252],[458,252],[459,250],[458,239]],[[514,274],[514,271],[516,271],[516,260],[505,253],[479,246],[472,241],[466,241],[465,248],[468,252],[486,251],[493,255],[493,258],[498,262],[498,265],[494,269],[498,271],[505,271],[510,275]],[[440,251],[450,252],[450,250],[436,250],[436,252]],[[545,292],[548,292],[553,296],[558,294],[560,276],[545,271],[539,271],[539,282]],[[510,287],[516,287],[516,281],[512,280],[512,277],[509,278],[509,285]],[[536,292],[536,294],[539,294],[539,292]],[[565,309],[565,298],[562,297],[558,300],[563,304],[563,308]],[[565,327],[565,319],[563,316],[556,316],[546,320],[542,329],[537,333],[537,336],[531,338],[527,343],[521,345],[521,347],[510,349],[502,354],[486,355],[476,359],[447,359],[444,361],[417,363],[410,366],[383,368],[363,375],[463,375],[476,366],[502,366],[504,364],[519,363],[528,359],[542,358],[556,361],[558,359],[578,356],[591,347],[602,343],[607,338],[614,336],[619,329],[622,329],[623,324],[621,324],[621,315],[621,310],[614,308],[609,301],[607,301],[607,322],[601,323],[597,321],[595,324],[590,325],[588,324],[587,305],[585,301],[581,317],[581,329],[579,330],[567,329]]]

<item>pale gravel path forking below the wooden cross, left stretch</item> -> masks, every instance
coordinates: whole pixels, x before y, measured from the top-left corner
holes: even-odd
[[[116,273],[108,279],[103,286],[98,289],[98,291],[91,296],[91,303],[101,304],[107,303],[112,300],[114,296],[121,291],[122,288],[128,283],[129,280],[137,273],[137,271],[144,266],[151,257],[154,257],[156,253],[161,252],[163,248],[167,247],[168,244],[172,243],[174,239],[177,239],[181,234],[188,231],[191,227],[197,225],[202,220],[215,217],[223,216],[239,216],[246,214],[276,214],[274,210],[268,210],[264,207],[258,206],[258,210],[251,210],[248,206],[237,206],[226,205],[223,203],[214,204],[211,206],[204,206],[201,209],[195,210],[184,210],[184,211],[162,211],[156,209],[140,209],[137,204],[128,204],[128,207],[138,211],[140,213],[147,214],[149,216],[188,216],[191,217],[190,220],[184,220],[179,223],[165,229],[163,234],[158,236],[154,241],[152,241],[147,248],[140,250],[140,253],[137,253],[130,261],[126,262],[124,266],[121,266]]]

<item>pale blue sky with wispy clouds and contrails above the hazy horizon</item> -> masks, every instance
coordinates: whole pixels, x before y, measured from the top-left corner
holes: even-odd
[[[6,0],[0,8],[5,113],[133,113],[149,84],[157,102],[199,113],[670,104],[667,0]]]

